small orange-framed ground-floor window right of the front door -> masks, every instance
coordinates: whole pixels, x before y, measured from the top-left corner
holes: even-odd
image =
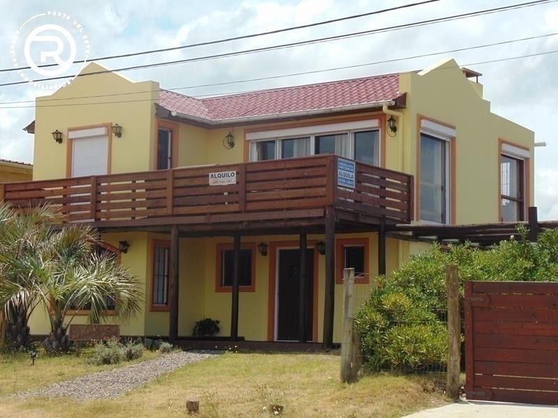
[[[335,282],[343,283],[343,270],[354,268],[354,282],[368,283],[370,246],[368,238],[340,238],[335,247]]]

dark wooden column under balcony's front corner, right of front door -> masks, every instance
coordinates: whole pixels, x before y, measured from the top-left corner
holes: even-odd
[[[326,294],[324,300],[325,349],[333,346],[333,309],[335,307],[335,211],[326,208]]]

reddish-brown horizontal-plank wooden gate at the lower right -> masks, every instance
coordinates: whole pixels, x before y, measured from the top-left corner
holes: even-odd
[[[558,404],[558,283],[465,283],[467,399]]]

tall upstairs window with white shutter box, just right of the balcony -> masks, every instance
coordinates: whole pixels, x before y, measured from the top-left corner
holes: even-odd
[[[428,120],[421,120],[419,138],[421,221],[449,224],[451,209],[450,147],[455,130]]]

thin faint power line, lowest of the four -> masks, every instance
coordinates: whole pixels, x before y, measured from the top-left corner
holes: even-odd
[[[554,51],[544,51],[544,52],[535,52],[533,54],[523,54],[523,55],[518,55],[518,56],[508,56],[505,58],[500,58],[500,59],[493,59],[490,61],[479,61],[479,62],[475,62],[475,63],[466,63],[463,66],[469,66],[469,65],[483,65],[483,64],[488,64],[488,63],[496,63],[496,62],[503,62],[503,61],[511,61],[511,60],[515,60],[515,59],[523,59],[523,58],[531,58],[534,56],[542,56],[542,55],[549,55],[549,54],[556,54],[558,53],[558,49],[554,50]],[[439,53],[442,54],[442,53]],[[426,54],[425,56],[428,56],[428,54]],[[411,59],[411,58],[409,58]],[[396,59],[395,61],[402,61],[404,59]],[[391,60],[389,60],[391,61]],[[353,67],[358,67],[358,66],[363,66],[363,65],[375,65],[378,63],[383,63],[386,61],[377,61],[375,63],[368,63],[368,64],[358,64],[358,65],[349,65],[348,67],[339,67],[339,68],[329,68],[326,70],[315,70],[315,71],[311,71],[311,72],[326,72],[326,71],[333,71],[333,70],[338,70],[338,69],[343,69],[343,68],[353,68]],[[443,70],[446,70],[449,68],[443,68]],[[442,69],[439,69],[442,70]],[[301,74],[305,74],[305,73],[301,73]],[[298,74],[294,74],[294,75],[298,75]],[[285,76],[275,76],[275,77],[265,77],[265,78],[278,78],[278,77],[290,77],[291,75],[285,75]],[[231,84],[234,82],[230,82]],[[183,88],[193,88],[193,87],[183,87]],[[210,96],[213,95],[231,95],[231,94],[243,94],[243,93],[253,93],[255,91],[261,91],[260,89],[257,90],[250,90],[250,91],[234,91],[234,92],[228,92],[228,93],[215,93],[215,94],[211,94]],[[135,92],[135,93],[131,93],[131,94],[136,94],[136,93],[140,93],[140,92]],[[144,92],[144,93],[149,93],[148,91]],[[123,93],[123,95],[126,94],[130,94],[130,93]],[[193,97],[203,97],[204,95],[197,95],[197,96],[193,96]],[[96,97],[96,96],[88,96],[88,97]],[[99,96],[102,97],[102,96]],[[86,98],[86,97],[82,97],[82,98]],[[71,98],[71,99],[80,99],[80,98]],[[68,99],[61,99],[61,100],[68,100]],[[89,102],[89,103],[72,103],[72,104],[45,104],[45,105],[29,105],[29,106],[0,106],[0,109],[24,109],[24,108],[31,108],[31,107],[64,107],[64,106],[89,106],[89,105],[93,105],[93,104],[123,104],[123,103],[137,103],[137,102],[155,102],[156,100],[152,100],[152,99],[139,99],[139,100],[114,100],[114,101],[100,101],[100,102]]]

